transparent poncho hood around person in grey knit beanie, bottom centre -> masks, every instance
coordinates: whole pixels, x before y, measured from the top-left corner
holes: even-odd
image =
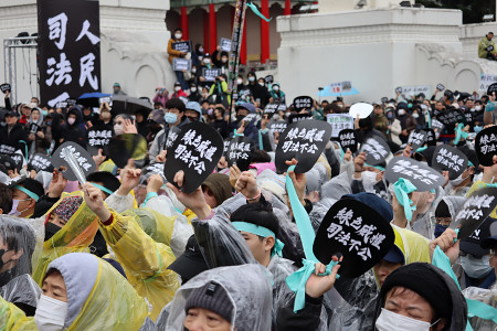
[[[271,330],[272,279],[264,267],[256,264],[222,267],[207,270],[183,285],[170,306],[167,324],[156,330],[183,331],[184,306],[193,289],[210,281],[221,285],[230,296],[234,307],[231,330]]]

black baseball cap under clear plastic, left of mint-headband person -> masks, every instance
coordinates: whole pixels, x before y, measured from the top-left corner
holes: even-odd
[[[180,275],[182,284],[186,284],[200,273],[209,269],[194,235],[188,239],[184,253],[178,257],[168,269]]]

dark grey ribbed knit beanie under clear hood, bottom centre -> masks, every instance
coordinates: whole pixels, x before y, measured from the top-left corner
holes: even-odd
[[[215,312],[231,323],[233,318],[233,303],[226,290],[218,282],[210,281],[194,289],[188,297],[184,311],[190,308],[203,308]]]

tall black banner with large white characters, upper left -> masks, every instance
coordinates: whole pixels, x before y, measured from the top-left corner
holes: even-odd
[[[40,96],[54,107],[101,90],[98,0],[38,0]]]

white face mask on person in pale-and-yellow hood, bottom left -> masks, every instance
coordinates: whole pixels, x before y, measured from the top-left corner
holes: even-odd
[[[34,313],[34,322],[40,331],[59,331],[64,329],[67,302],[41,295]]]

